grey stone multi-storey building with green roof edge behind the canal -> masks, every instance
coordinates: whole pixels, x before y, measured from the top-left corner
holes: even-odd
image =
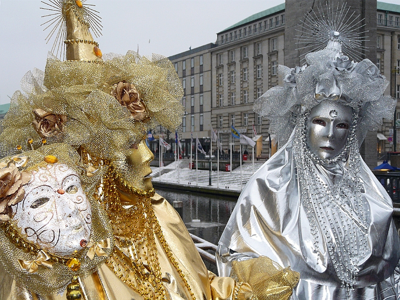
[[[299,19],[303,18],[305,11],[309,11],[311,4],[309,0],[302,0],[301,3],[298,0],[286,0],[287,9],[282,3],[251,15],[218,32],[215,43],[170,57],[179,77],[185,79],[183,83],[186,84],[186,126],[179,128],[182,136],[190,138],[190,131],[193,131],[193,136],[197,133],[199,137],[209,137],[212,125],[220,132],[223,148],[227,149],[231,124],[239,132],[252,137],[254,123],[257,134],[263,136],[262,156],[269,153],[269,141],[265,141],[269,123],[254,113],[253,102],[268,88],[281,84],[277,74],[278,64],[300,64],[298,57],[301,53],[296,50],[298,46],[295,44],[294,29],[300,29]],[[400,5],[373,0],[352,0],[347,1],[347,5],[356,10],[354,15],[360,14],[360,19],[364,18],[361,23],[364,22],[364,28],[368,30],[365,33],[368,35],[365,45],[369,47],[365,56],[389,79],[385,93],[400,99],[400,70],[395,70],[396,67],[400,69]],[[200,56],[203,57],[202,71]],[[194,68],[190,67],[192,59]],[[186,63],[186,72],[183,70],[183,61]],[[200,73],[203,73],[202,92]],[[191,86],[192,76],[194,86]],[[192,96],[194,106],[188,100]],[[397,123],[400,128],[400,105],[395,116],[399,119]],[[400,149],[400,129],[396,136],[393,124],[385,121],[378,134],[373,132],[367,136],[361,152],[364,159],[370,156],[367,159],[370,166],[387,151]],[[387,140],[390,137],[395,140],[394,145]],[[236,149],[238,147],[236,142]]]

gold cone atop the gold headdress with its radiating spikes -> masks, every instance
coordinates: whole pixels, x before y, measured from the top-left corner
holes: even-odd
[[[51,11],[43,17],[50,17],[42,25],[50,30],[46,37],[49,42],[54,37],[52,52],[67,60],[93,61],[101,59],[99,44],[93,39],[101,35],[102,24],[99,12],[86,4],[86,0],[47,0],[42,1]]]

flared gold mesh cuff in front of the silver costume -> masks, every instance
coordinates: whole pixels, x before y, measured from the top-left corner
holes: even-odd
[[[300,274],[290,266],[282,268],[266,256],[244,261],[233,261],[231,277],[251,285],[258,300],[287,300]]]

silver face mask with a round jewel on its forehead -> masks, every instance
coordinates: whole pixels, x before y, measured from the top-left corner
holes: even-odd
[[[324,100],[311,108],[306,121],[306,144],[320,159],[336,157],[346,144],[353,109]]]

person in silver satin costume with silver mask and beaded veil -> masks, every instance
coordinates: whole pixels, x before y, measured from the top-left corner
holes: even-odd
[[[370,60],[343,55],[340,36],[332,31],[302,67],[279,66],[284,86],[254,103],[282,146],[244,187],[218,270],[226,276],[232,261],[264,255],[300,273],[295,300],[400,299],[392,201],[359,154],[396,101]]]

